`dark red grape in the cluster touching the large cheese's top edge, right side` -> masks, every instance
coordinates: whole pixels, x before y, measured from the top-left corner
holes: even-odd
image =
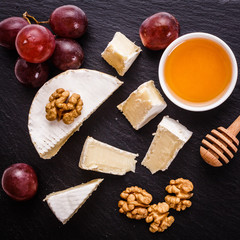
[[[55,67],[62,71],[78,69],[83,63],[84,53],[80,44],[68,38],[56,39],[56,47],[52,56]]]

